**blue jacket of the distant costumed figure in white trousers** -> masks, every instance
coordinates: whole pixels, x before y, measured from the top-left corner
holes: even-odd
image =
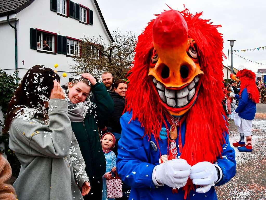
[[[238,107],[235,110],[235,112],[238,113],[238,116],[247,120],[254,119],[256,113],[256,103],[248,97],[247,88],[245,87],[243,89],[240,97],[236,94],[235,98],[239,100]]]

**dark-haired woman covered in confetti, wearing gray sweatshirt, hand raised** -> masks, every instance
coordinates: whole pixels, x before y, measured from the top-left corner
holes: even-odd
[[[90,191],[59,82],[54,70],[35,65],[9,103],[3,132],[21,163],[13,184],[18,199],[83,199]]]

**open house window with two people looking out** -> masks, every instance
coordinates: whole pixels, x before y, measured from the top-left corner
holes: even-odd
[[[55,36],[38,31],[37,50],[55,52]]]

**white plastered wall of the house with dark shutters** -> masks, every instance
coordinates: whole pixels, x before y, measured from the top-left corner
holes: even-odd
[[[93,6],[92,1],[74,0],[73,2],[80,3],[81,5],[88,7],[90,10],[93,10],[93,25],[85,25],[79,23],[79,21],[76,19],[57,15],[56,12],[50,10],[50,1],[48,0],[35,0],[30,6],[16,14],[16,18],[19,19],[17,22],[19,77],[22,78],[27,70],[34,65],[45,65],[53,68],[55,63],[57,63],[59,65],[59,67],[56,68],[58,74],[61,76],[63,72],[67,73],[66,78],[61,77],[62,83],[68,82],[69,78],[73,78],[73,75],[70,74],[72,71],[69,68],[69,64],[74,64],[71,57],[67,57],[65,54],[58,53],[56,55],[39,53],[30,48],[30,28],[50,31],[58,35],[68,36],[76,39],[80,39],[84,35],[88,35],[90,37],[102,36],[106,42],[109,42],[109,36],[106,34],[105,29],[103,29],[102,23],[100,21],[101,19],[97,15],[98,11],[96,7]],[[1,37],[1,39],[4,40],[3,46],[8,47],[8,51],[5,51],[3,48],[1,48],[0,56],[1,60],[3,61],[3,66],[15,68],[14,29],[12,29],[8,23],[6,24],[0,24],[0,29],[2,32],[1,26],[4,27],[3,30],[5,33],[1,33],[1,35],[4,35],[7,39],[3,39],[4,37]],[[2,44],[2,41],[0,43]],[[9,68],[3,67],[3,69]]]

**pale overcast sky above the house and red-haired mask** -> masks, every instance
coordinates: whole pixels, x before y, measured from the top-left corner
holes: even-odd
[[[163,10],[183,10],[185,4],[190,13],[203,11],[203,19],[211,19],[214,25],[222,25],[218,31],[223,34],[224,53],[231,49],[228,39],[236,39],[233,50],[266,46],[266,1],[265,0],[97,0],[107,27],[112,33],[119,28],[123,32],[132,31],[139,35],[149,20]],[[235,52],[249,60],[266,64],[266,50]],[[227,59],[223,64],[227,66]],[[231,55],[229,55],[231,65]],[[257,71],[266,68],[246,62],[233,55],[233,65]]]

